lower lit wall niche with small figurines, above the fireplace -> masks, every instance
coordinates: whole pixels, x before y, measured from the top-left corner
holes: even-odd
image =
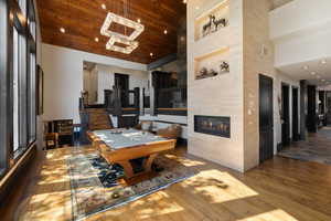
[[[215,77],[222,74],[229,73],[228,52],[229,48],[227,46],[195,57],[195,80]]]

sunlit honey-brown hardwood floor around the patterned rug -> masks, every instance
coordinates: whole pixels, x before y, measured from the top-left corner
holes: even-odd
[[[68,152],[50,150],[44,160],[38,158],[0,208],[1,220],[71,220]],[[276,157],[242,175],[188,156],[183,147],[168,156],[197,175],[88,220],[331,220],[330,166]]]

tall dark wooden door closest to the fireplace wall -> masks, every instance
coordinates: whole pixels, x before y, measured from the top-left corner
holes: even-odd
[[[259,161],[274,157],[274,81],[259,75]]]

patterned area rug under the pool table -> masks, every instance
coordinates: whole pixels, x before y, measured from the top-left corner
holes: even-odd
[[[120,166],[108,165],[97,154],[73,155],[67,159],[67,167],[74,220],[84,220],[194,176],[191,169],[167,157],[158,157],[154,161],[162,168],[157,177],[122,187],[117,182],[124,176]]]

